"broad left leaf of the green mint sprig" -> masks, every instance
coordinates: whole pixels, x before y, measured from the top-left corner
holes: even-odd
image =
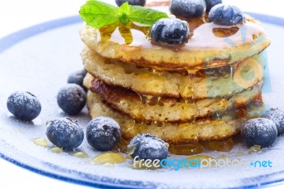
[[[81,6],[80,16],[87,25],[102,28],[119,22],[119,7],[101,1],[89,0]]]

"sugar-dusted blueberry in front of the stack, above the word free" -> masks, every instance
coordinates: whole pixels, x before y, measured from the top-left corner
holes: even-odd
[[[128,146],[128,148],[135,148],[131,154],[132,158],[136,156],[139,159],[165,159],[168,157],[168,148],[162,139],[151,134],[138,134],[135,136]]]

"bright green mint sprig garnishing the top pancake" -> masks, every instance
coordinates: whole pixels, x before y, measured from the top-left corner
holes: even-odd
[[[102,1],[89,0],[79,13],[87,25],[97,29],[119,22],[126,25],[130,21],[152,26],[160,18],[168,18],[166,13],[142,6],[131,6],[127,1],[117,7]]]

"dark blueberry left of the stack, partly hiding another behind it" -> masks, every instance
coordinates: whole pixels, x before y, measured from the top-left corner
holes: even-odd
[[[59,107],[70,115],[79,114],[86,104],[86,92],[77,84],[67,84],[58,92]]]

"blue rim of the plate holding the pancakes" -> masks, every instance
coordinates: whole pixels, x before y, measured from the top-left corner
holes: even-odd
[[[279,18],[276,16],[269,16],[261,13],[249,13],[250,16],[253,16],[254,18],[257,18],[258,20],[266,23],[272,23],[277,26],[283,26],[284,27],[284,18]],[[80,19],[80,16],[69,16],[66,18],[60,18],[56,19],[53,21],[48,21],[44,23],[40,23],[35,26],[31,26],[29,28],[25,28],[21,31],[17,31],[15,33],[11,33],[8,36],[5,36],[4,38],[0,38],[0,54],[3,53],[5,50],[11,48],[13,45],[16,45],[16,43],[19,43],[27,38],[33,37],[39,33],[43,33],[46,31],[53,30],[55,28],[60,28],[63,26],[68,26],[71,24],[75,23],[80,23],[82,20]],[[38,173],[40,175],[45,175],[50,178],[55,178],[58,180],[66,181],[69,183],[75,183],[79,185],[86,185],[86,186],[91,186],[91,187],[96,187],[96,188],[145,188],[146,186],[148,188],[155,188],[158,183],[143,183],[141,181],[132,181],[132,180],[119,180],[114,182],[113,178],[108,178],[100,177],[99,175],[88,175],[86,173],[78,172],[78,171],[72,171],[72,173],[82,175],[85,174],[86,178],[92,177],[92,180],[81,180],[81,179],[75,179],[68,177],[66,175],[60,175],[60,171],[64,172],[66,171],[65,168],[61,168],[59,166],[56,166],[54,164],[48,163],[48,162],[43,162],[46,166],[50,166],[55,170],[55,172],[58,173],[53,173],[52,171],[43,171],[40,168],[35,168],[33,166],[27,165],[25,163],[22,163],[21,161],[18,161],[16,158],[11,158],[9,156],[5,155],[5,152],[0,151],[0,158],[3,158],[6,161],[9,161],[16,166],[20,166],[22,168],[26,168],[28,171],[32,171],[34,173]],[[272,185],[281,185],[284,184],[284,171],[276,172],[273,174],[268,174],[268,175],[261,175],[257,176],[251,179],[256,179],[256,180],[261,180],[261,178],[267,178],[269,175],[283,175],[283,177],[280,177],[275,180],[264,180],[263,182],[260,183],[255,183],[255,184],[248,184],[248,185],[240,185],[238,188],[256,188],[256,187],[263,187],[263,186],[272,186]],[[99,178],[99,179],[96,179]],[[104,182],[102,182],[104,180]]]

